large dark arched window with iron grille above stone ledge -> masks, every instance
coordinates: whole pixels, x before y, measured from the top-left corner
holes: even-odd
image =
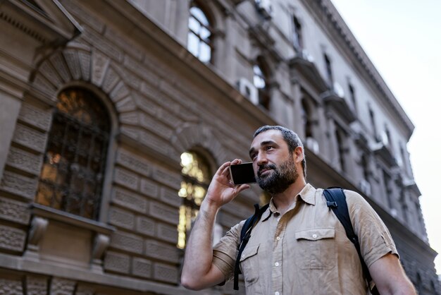
[[[98,219],[111,120],[94,93],[58,95],[36,203]]]

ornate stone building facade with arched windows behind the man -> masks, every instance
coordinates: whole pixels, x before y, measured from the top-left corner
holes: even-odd
[[[359,191],[441,294],[414,125],[329,0],[6,0],[0,24],[1,293],[194,294],[180,265],[213,171],[280,124],[308,181]],[[214,239],[264,197],[226,205]]]

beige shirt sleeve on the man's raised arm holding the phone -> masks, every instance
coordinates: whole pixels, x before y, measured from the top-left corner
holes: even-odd
[[[231,279],[237,257],[237,246],[240,243],[240,231],[242,230],[244,220],[232,227],[221,241],[213,247],[213,265],[225,275],[225,281]]]

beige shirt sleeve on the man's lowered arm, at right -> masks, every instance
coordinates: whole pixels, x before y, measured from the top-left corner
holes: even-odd
[[[383,220],[358,193],[344,191],[349,216],[359,237],[361,255],[368,267],[388,253],[398,256],[397,248]]]

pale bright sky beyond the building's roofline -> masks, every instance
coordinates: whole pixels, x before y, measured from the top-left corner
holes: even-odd
[[[407,150],[441,275],[441,1],[331,1],[415,125]]]

